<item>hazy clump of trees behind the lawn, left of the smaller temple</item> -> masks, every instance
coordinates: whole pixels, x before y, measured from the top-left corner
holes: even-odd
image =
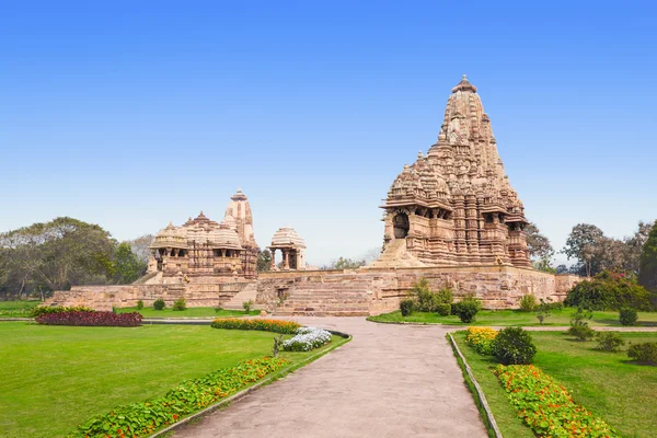
[[[118,242],[100,226],[68,217],[0,233],[0,299],[132,283],[146,273],[151,241]]]

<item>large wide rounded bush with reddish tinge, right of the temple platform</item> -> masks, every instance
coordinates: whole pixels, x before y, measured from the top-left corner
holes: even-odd
[[[591,310],[619,310],[623,307],[650,311],[650,292],[625,274],[603,270],[590,280],[578,283],[564,301],[566,306],[586,306]]]

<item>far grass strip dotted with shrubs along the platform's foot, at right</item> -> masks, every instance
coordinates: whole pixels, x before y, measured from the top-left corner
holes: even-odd
[[[563,310],[552,311],[552,314],[545,319],[543,325],[569,325],[570,316],[575,313],[574,308],[564,308]],[[534,312],[522,312],[519,310],[482,310],[476,314],[476,321],[465,324],[459,320],[459,316],[440,316],[438,313],[413,312],[408,316],[402,316],[396,310],[390,313],[383,313],[377,316],[369,316],[369,321],[374,322],[417,322],[427,324],[449,324],[449,325],[541,325]],[[590,325],[600,326],[621,326],[619,322],[619,312],[593,312],[593,319]],[[639,312],[639,326],[657,326],[657,312]]]

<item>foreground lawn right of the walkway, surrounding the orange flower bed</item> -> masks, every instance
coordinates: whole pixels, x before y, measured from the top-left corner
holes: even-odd
[[[560,332],[532,332],[539,353],[534,365],[564,384],[573,399],[600,416],[623,437],[654,437],[657,418],[657,367],[629,362],[625,351],[593,349],[596,342],[575,342]],[[657,342],[657,333],[622,333],[632,343]],[[465,335],[454,339],[480,382],[505,438],[534,435],[517,417],[497,378],[494,359],[477,355]]]

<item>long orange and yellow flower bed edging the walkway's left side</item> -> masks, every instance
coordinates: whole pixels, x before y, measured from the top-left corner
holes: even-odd
[[[227,397],[287,365],[280,358],[244,360],[237,367],[187,380],[164,396],[118,406],[80,425],[67,438],[145,437]]]

